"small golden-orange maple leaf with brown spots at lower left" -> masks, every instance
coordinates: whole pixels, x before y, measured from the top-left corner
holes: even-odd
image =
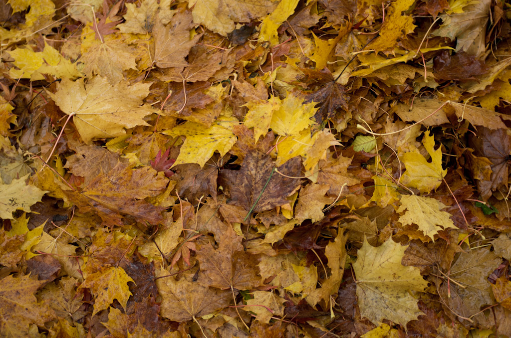
[[[126,303],[131,296],[128,282],[135,281],[121,267],[103,268],[97,273],[88,275],[80,284],[80,288],[89,288],[95,297],[92,316],[107,309],[114,299],[119,301],[126,312]]]

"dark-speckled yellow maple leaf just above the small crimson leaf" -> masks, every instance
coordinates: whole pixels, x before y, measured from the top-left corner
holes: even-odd
[[[224,156],[236,143],[236,135],[232,128],[234,123],[217,121],[210,128],[195,122],[187,122],[164,134],[186,136],[173,166],[184,163],[197,163],[201,167],[210,159],[215,151]]]

